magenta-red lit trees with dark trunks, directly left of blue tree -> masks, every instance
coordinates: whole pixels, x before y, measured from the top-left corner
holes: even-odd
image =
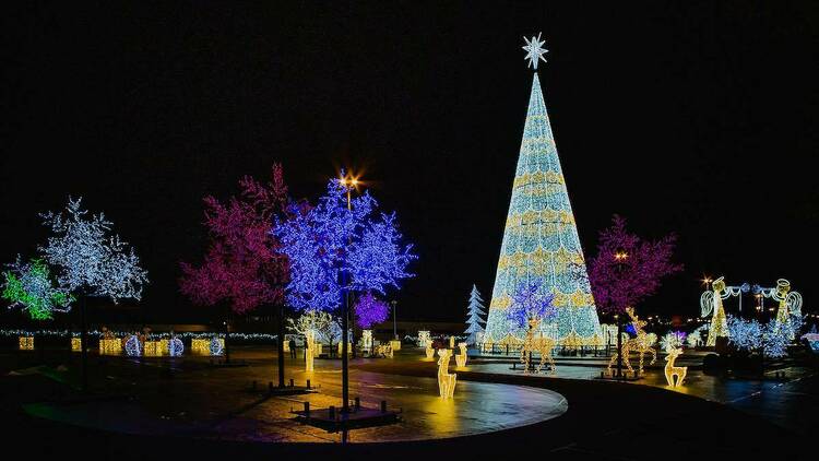
[[[274,216],[287,212],[287,186],[282,166],[274,164],[271,180],[250,176],[239,181],[240,193],[227,203],[204,198],[210,245],[200,265],[182,262],[180,291],[193,303],[213,306],[228,303],[241,315],[261,306],[276,307],[278,315],[278,386],[284,387],[284,288],[288,261],[270,232]],[[229,315],[228,315],[229,317]],[[229,319],[227,335],[229,336]],[[229,338],[225,341],[229,360]]]

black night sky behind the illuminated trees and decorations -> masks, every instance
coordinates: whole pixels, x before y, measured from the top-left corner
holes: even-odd
[[[698,315],[703,273],[819,296],[816,3],[33,3],[1,14],[0,260],[82,196],[149,270],[143,321],[207,317],[176,284],[201,199],[273,162],[311,200],[359,172],[420,257],[400,319],[462,320],[473,282],[490,297],[537,32],[586,258],[614,213],[679,235],[685,272],[640,310]]]

